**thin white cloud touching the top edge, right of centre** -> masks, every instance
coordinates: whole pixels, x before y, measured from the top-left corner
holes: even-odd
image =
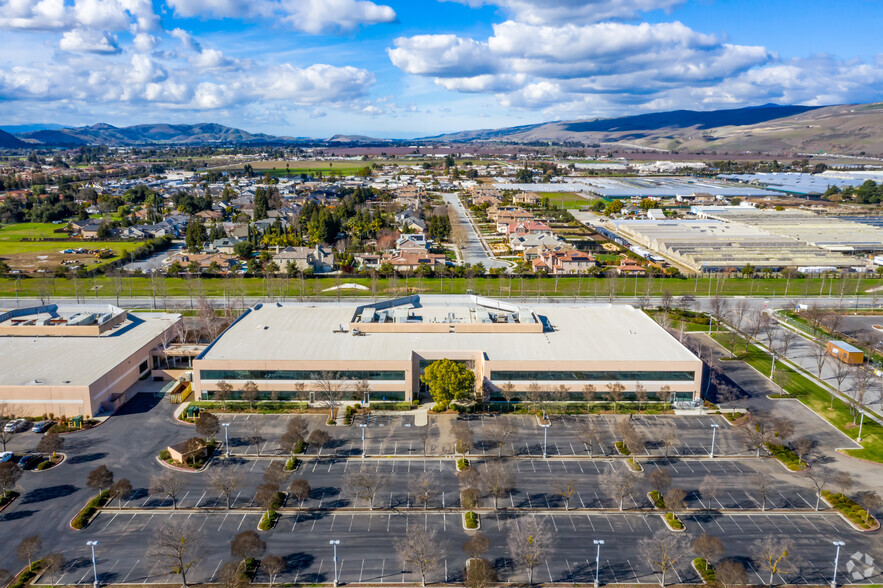
[[[532,25],[593,23],[669,10],[685,0],[447,0],[473,8],[499,6],[514,20]]]

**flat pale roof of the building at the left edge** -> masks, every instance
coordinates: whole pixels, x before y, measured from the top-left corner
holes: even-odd
[[[88,386],[180,318],[129,314],[101,336],[0,336],[0,386]]]

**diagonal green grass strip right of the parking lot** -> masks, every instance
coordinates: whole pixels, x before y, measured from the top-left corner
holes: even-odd
[[[718,333],[712,336],[718,343],[727,349],[730,348],[729,335]],[[745,339],[739,337],[736,344],[737,356],[760,373],[769,374],[772,369],[772,359],[769,354],[753,345],[748,348],[747,352],[745,349]],[[858,437],[858,427],[853,427],[852,413],[843,400],[835,398],[834,408],[831,409],[831,394],[827,390],[779,362],[776,363],[776,373],[773,379],[776,384],[837,427],[850,439],[855,440]],[[861,445],[863,449],[846,449],[844,453],[883,463],[883,426],[871,419],[865,419]]]

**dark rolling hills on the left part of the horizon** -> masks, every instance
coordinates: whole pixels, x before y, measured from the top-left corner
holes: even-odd
[[[87,127],[37,130],[17,135],[35,145],[187,145],[208,143],[275,143],[284,141],[272,135],[249,133],[217,123],[195,125],[146,124],[115,127],[99,123]]]

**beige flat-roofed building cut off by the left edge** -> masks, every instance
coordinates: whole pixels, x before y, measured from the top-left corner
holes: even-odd
[[[107,304],[47,304],[0,313],[0,413],[94,416],[129,400],[177,314]]]

